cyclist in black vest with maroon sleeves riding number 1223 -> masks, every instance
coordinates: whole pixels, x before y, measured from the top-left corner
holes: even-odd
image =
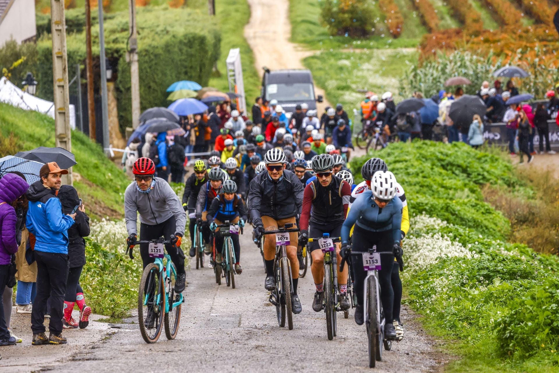
[[[334,159],[330,154],[321,154],[312,158],[312,171],[315,172],[316,179],[305,187],[299,234],[300,246],[307,244],[309,235],[310,237],[322,237],[323,233],[330,233],[330,237],[340,237],[345,214],[347,214],[351,187],[347,182],[334,176],[333,168]],[[333,241],[338,263],[341,263],[339,239],[333,239]],[[312,242],[307,247],[312,256],[311,272],[316,286],[312,309],[318,312],[323,309],[324,301],[324,253],[320,250],[318,242]],[[343,272],[340,272],[339,267],[337,270],[340,307],[347,310],[351,306],[347,296],[347,267]]]

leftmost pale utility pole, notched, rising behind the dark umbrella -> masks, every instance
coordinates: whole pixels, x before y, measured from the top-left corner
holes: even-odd
[[[53,38],[55,144],[57,147],[66,149],[68,152],[72,152],[64,0],[50,0],[50,27],[51,36]],[[65,182],[72,185],[72,181],[72,168],[70,168]]]

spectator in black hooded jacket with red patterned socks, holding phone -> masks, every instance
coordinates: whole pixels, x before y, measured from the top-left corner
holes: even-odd
[[[80,204],[78,191],[71,185],[63,185],[58,190],[58,199],[62,204],[62,212],[70,214],[75,210],[74,224],[68,229],[68,281],[66,282],[66,292],[64,295],[64,328],[86,328],[89,324],[91,307],[86,305],[82,286],[79,285],[79,277],[82,274],[83,266],[86,265],[86,241],[83,239],[89,235],[89,216],[86,214],[86,207]],[[79,319],[74,320],[72,310],[74,304],[78,305]]]

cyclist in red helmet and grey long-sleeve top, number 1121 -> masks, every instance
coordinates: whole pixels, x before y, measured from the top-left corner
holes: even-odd
[[[155,164],[149,158],[138,158],[132,167],[135,181],[124,192],[124,216],[128,238],[126,243],[132,248],[138,238],[138,214],[140,214],[140,238],[142,240],[157,239],[161,236],[169,240],[174,235],[174,248],[165,245],[167,253],[177,268],[177,278],[174,286],[176,292],[182,292],[186,283],[184,259],[181,258],[182,237],[186,225],[186,214],[181,208],[177,194],[167,181],[154,177]],[[140,244],[140,256],[145,268],[153,263],[148,253],[149,244]]]

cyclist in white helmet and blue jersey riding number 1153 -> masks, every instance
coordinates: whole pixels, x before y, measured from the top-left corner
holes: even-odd
[[[367,252],[371,246],[376,246],[380,254],[381,270],[378,271],[378,282],[381,289],[381,302],[386,320],[393,320],[394,290],[391,284],[392,266],[395,257],[401,257],[400,248],[402,201],[396,196],[396,178],[390,171],[375,173],[371,181],[371,190],[364,191],[353,202],[347,218],[342,226],[341,256],[349,258],[349,231],[353,230],[353,251]],[[363,282],[367,272],[363,270],[361,262],[352,266],[357,308],[355,321],[363,324]],[[385,324],[385,337],[396,339],[394,324]]]

